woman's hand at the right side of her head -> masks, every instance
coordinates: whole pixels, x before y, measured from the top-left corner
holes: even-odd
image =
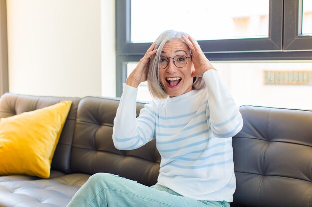
[[[206,58],[204,52],[202,52],[199,45],[195,43],[192,37],[182,35],[182,39],[192,51],[192,61],[195,67],[195,71],[192,74],[193,77],[202,77],[204,75],[204,72],[208,71],[209,69],[216,70],[210,63],[210,61]]]

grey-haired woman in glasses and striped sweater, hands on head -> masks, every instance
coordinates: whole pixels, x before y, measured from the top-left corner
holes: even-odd
[[[136,94],[148,81],[155,100],[136,118]],[[113,141],[136,149],[156,138],[158,183],[147,187],[98,173],[69,207],[229,207],[235,191],[232,136],[241,114],[198,43],[165,31],[129,75],[114,120]]]

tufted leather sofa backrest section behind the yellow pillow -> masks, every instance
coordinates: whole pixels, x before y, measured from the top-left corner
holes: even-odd
[[[6,93],[1,97],[0,118],[51,106],[63,100],[71,100],[72,105],[62,130],[51,163],[52,170],[70,172],[70,151],[76,122],[77,106],[80,98],[30,96]]]

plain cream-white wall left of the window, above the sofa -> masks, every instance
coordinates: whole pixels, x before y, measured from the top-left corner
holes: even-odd
[[[101,15],[106,6],[114,12],[114,2],[7,0],[10,92],[115,96],[115,77],[104,75],[115,74],[115,53],[113,60],[101,60],[106,43],[108,51],[115,51],[115,38],[110,39],[115,35],[115,13]],[[103,22],[106,18],[110,24]],[[101,26],[111,28],[101,34]],[[110,68],[102,67],[105,62]]]

